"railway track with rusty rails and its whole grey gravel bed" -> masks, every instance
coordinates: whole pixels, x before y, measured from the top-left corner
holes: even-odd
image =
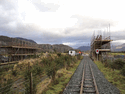
[[[120,91],[108,82],[88,56],[84,56],[63,94],[120,94]]]

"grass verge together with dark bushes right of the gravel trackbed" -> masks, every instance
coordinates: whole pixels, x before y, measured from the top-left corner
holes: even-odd
[[[121,59],[117,59],[114,62],[107,60],[105,63],[95,61],[96,65],[101,72],[105,75],[105,78],[112,84],[114,84],[121,92],[125,94],[125,63]]]

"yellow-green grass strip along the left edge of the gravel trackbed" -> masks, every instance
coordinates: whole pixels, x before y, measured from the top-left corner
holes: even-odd
[[[51,83],[48,88],[43,91],[42,94],[62,94],[65,86],[69,82],[79,63],[80,60],[76,64],[74,64],[73,68],[70,68],[69,70],[65,70],[64,68],[58,70],[56,80]]]

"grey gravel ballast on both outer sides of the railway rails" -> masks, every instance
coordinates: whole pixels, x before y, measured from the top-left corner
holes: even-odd
[[[87,56],[84,57],[79,64],[63,94],[80,94],[82,72],[85,62],[88,62],[92,66],[99,94],[120,94],[120,91],[105,79],[103,73],[98,69],[96,64]]]

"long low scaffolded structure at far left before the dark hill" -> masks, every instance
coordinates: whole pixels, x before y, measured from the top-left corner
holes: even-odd
[[[39,49],[36,43],[17,38],[1,37],[0,62],[23,60],[36,55]]]

